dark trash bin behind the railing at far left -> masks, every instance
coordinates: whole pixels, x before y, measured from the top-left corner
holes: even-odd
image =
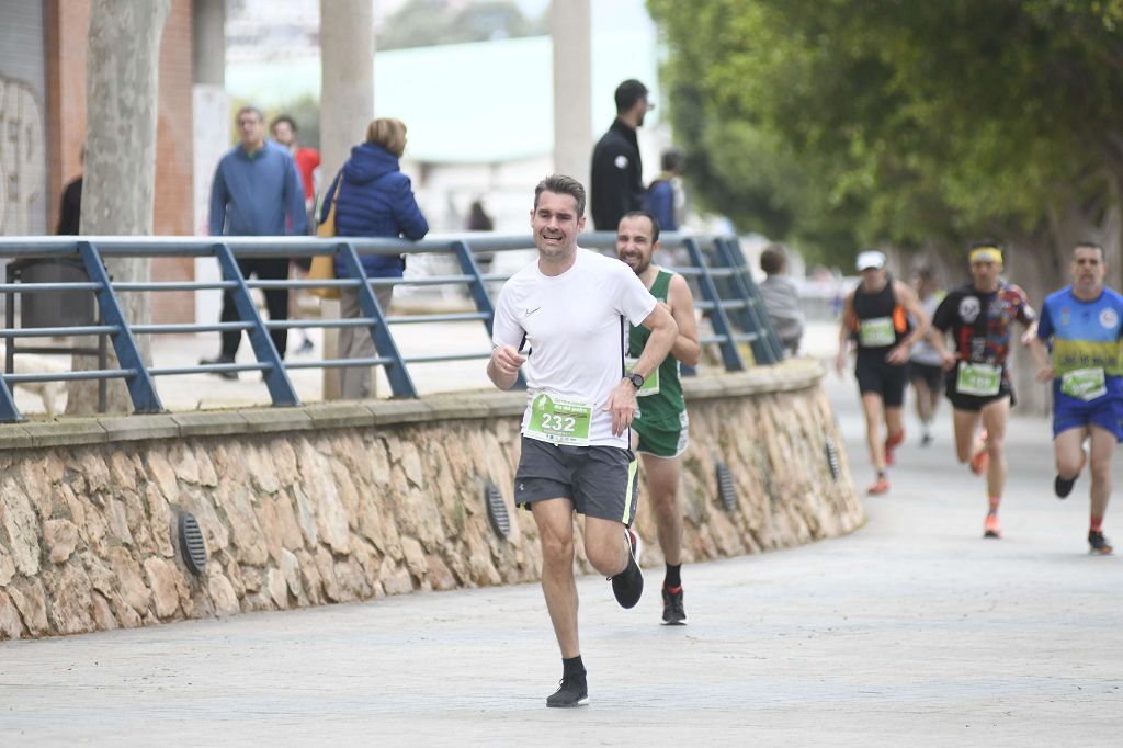
[[[88,283],[77,259],[26,259],[12,263],[20,283]],[[20,327],[84,327],[97,319],[92,291],[54,291],[20,294]]]

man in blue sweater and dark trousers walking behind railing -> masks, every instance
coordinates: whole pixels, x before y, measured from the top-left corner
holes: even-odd
[[[284,236],[308,234],[304,212],[304,190],[300,185],[296,164],[287,148],[265,139],[265,115],[256,107],[238,110],[240,143],[218,162],[211,185],[211,236]],[[287,257],[247,257],[238,259],[241,275],[283,281],[289,277]],[[268,289],[265,305],[271,320],[289,319],[289,291]],[[238,320],[234,294],[222,294],[223,322]],[[284,358],[289,330],[270,331],[273,345]],[[222,349],[217,358],[203,358],[200,364],[232,364],[241,344],[241,330],[222,332]],[[236,372],[219,376],[238,378]]]

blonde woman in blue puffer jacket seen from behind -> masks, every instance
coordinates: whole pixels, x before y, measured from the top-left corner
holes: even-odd
[[[405,125],[401,120],[381,118],[372,121],[366,128],[366,143],[351,148],[350,158],[328,189],[320,221],[327,220],[338,190],[336,236],[392,236],[414,241],[423,238],[429,232],[429,222],[418,208],[410,177],[402,174],[398,165],[404,150]],[[360,255],[359,259],[368,277],[401,277],[405,268],[405,258],[401,255]],[[348,276],[341,259],[336,259],[336,275]],[[393,286],[374,286],[383,314],[390,313],[393,291]],[[340,289],[339,311],[345,319],[363,316],[358,289]],[[371,358],[375,355],[367,328],[340,328],[340,358]],[[347,367],[339,372],[344,400],[363,400],[374,393],[369,367]]]

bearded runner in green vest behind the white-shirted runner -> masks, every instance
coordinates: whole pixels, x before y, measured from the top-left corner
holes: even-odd
[[[682,454],[686,451],[687,420],[679,364],[695,366],[702,355],[694,297],[686,279],[652,264],[659,248],[659,221],[650,213],[633,211],[617,227],[617,256],[631,267],[647,290],[670,311],[678,335],[670,353],[636,394],[639,414],[632,420],[632,449],[643,459],[648,501],[655,510],[656,530],[667,571],[663,578],[663,622],[684,626],[683,606],[683,508],[678,501]],[[628,334],[628,356],[638,359],[647,348],[650,332],[632,325]]]

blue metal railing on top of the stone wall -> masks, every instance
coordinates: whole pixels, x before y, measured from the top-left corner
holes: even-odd
[[[746,367],[740,344],[748,344],[757,364],[772,364],[783,357],[776,330],[764,311],[760,294],[746,265],[740,246],[733,237],[705,237],[664,234],[664,249],[683,249],[688,265],[675,267],[694,290],[695,305],[711,320],[713,335],[703,336],[702,344],[716,344],[728,371]],[[609,232],[584,234],[584,247],[611,249],[615,236]],[[704,249],[703,247],[706,247]],[[711,248],[712,247],[712,248]],[[52,382],[122,378],[136,412],[152,413],[164,410],[155,386],[155,377],[172,374],[201,374],[259,371],[274,405],[296,405],[300,399],[289,378],[289,370],[343,368],[348,366],[382,366],[394,396],[416,398],[417,389],[410,377],[408,364],[483,359],[490,350],[472,354],[444,354],[402,356],[391,331],[392,325],[419,322],[483,322],[491,338],[494,304],[489,283],[505,281],[504,274],[483,273],[476,259],[478,253],[529,249],[532,245],[526,235],[465,234],[433,237],[418,243],[399,239],[366,239],[339,237],[316,239],[310,237],[0,237],[0,259],[65,262],[77,258],[88,281],[65,283],[0,283],[0,295],[28,293],[93,292],[99,311],[98,323],[70,327],[13,327],[0,328],[0,339],[69,336],[108,337],[117,355],[117,368],[92,371],[52,372],[42,374],[12,374],[10,363],[18,354],[9,345],[8,366],[0,373],[0,422],[25,420],[16,408],[11,386],[22,382]],[[403,279],[372,279],[363,271],[360,255],[420,255],[445,254],[455,257],[460,274],[429,275]],[[331,255],[341,259],[349,277],[334,281],[312,280],[247,280],[239,271],[237,259],[248,257],[308,257]],[[222,273],[221,281],[144,281],[113,282],[106,271],[106,259],[124,257],[214,257]],[[467,286],[475,304],[475,312],[386,317],[378,305],[374,289],[396,285]],[[250,291],[313,288],[357,288],[363,317],[317,320],[264,319],[253,301]],[[137,323],[126,318],[118,295],[122,292],[202,291],[221,290],[232,294],[239,320],[204,323]],[[10,309],[10,304],[9,304]],[[11,314],[9,314],[9,318]],[[329,358],[320,361],[285,362],[281,358],[270,336],[272,330],[300,328],[366,328],[374,341],[376,356],[368,358]],[[147,366],[137,345],[137,335],[166,335],[184,332],[244,331],[249,338],[256,363],[216,363],[198,366]],[[520,377],[520,385],[522,384]]]

